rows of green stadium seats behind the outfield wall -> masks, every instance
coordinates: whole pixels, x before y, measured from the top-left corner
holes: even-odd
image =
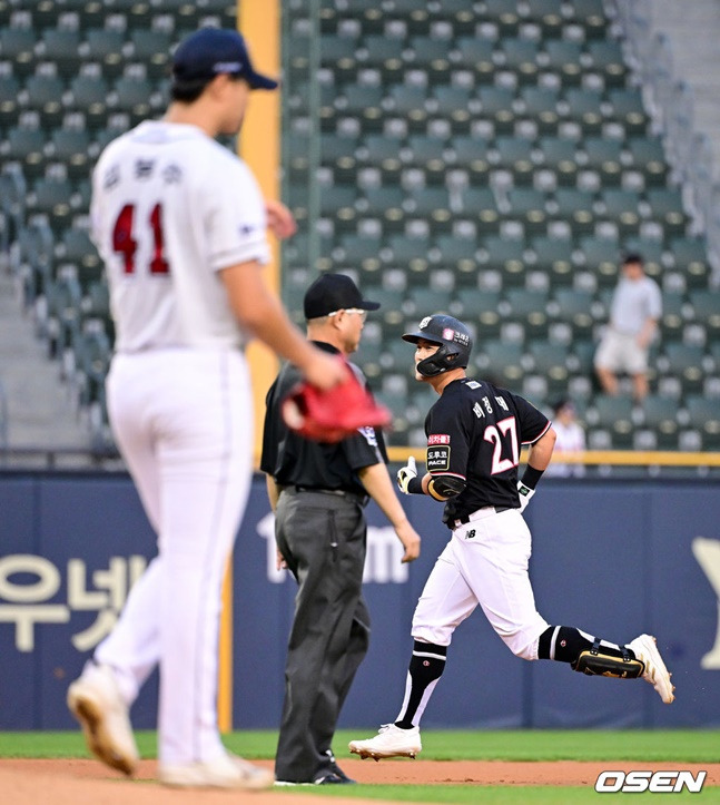
[[[235,6],[0,0],[2,247],[100,428],[112,325],[89,174],[107,141],[164,108],[171,46],[235,26]],[[398,336],[445,311],[475,333],[471,372],[545,410],[569,394],[591,448],[718,449],[720,293],[612,2],[309,8],[283,3],[284,198],[300,224],[283,294],[302,323],[315,273],[342,271],[383,303],[357,360],[395,414],[391,443],[423,443],[433,399]],[[641,406],[627,381],[602,395],[592,372],[629,249],[665,305]]]

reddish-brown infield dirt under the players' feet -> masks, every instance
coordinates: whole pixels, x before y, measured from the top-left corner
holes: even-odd
[[[270,762],[259,762],[270,766]],[[555,763],[503,762],[503,760],[373,760],[343,759],[345,772],[358,783],[415,784],[470,784],[470,785],[549,785],[594,786],[603,770],[682,769],[706,770],[706,786],[720,785],[720,764],[669,764],[563,760]],[[0,791],[3,805],[227,805],[237,792],[172,791],[155,782],[156,764],[142,760],[134,779],[126,779],[95,760],[40,760],[1,759]],[[294,797],[292,792],[263,792],[254,794],[263,805],[324,805],[325,796],[306,793]],[[348,805],[377,805],[377,799],[343,799],[342,791],[333,802]]]

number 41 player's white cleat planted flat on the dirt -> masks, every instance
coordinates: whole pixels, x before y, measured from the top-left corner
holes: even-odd
[[[159,765],[158,777],[165,785],[178,788],[270,788],[275,775],[235,755],[223,755],[205,763],[171,766]]]

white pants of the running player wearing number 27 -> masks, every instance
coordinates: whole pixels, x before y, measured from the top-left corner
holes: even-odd
[[[473,513],[456,528],[425,582],[412,635],[450,646],[453,632],[480,605],[507,648],[537,659],[537,640],[549,624],[535,609],[527,563],[531,534],[519,509]]]

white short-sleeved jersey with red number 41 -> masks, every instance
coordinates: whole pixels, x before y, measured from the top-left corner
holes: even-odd
[[[90,215],[118,352],[241,345],[217,272],[269,259],[245,163],[196,126],[148,120],[100,156]]]

